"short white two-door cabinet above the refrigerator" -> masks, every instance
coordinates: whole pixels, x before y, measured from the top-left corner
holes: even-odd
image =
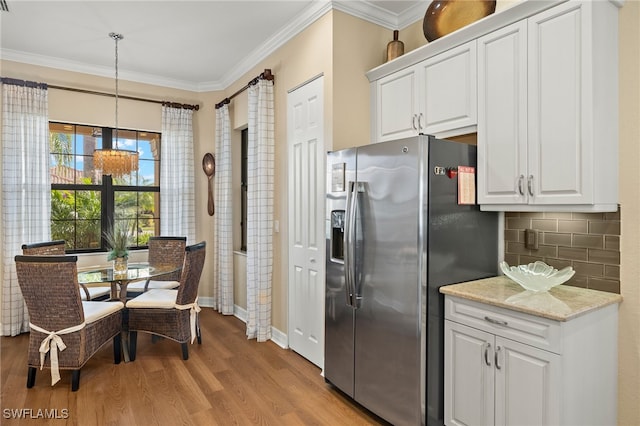
[[[476,84],[475,40],[376,80],[374,142],[475,131]]]

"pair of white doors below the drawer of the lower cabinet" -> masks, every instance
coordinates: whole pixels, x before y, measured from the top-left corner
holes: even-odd
[[[560,355],[452,321],[446,410],[449,425],[558,424]]]

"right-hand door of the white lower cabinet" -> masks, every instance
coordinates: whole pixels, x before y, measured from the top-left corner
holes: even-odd
[[[560,424],[560,355],[496,337],[495,424]]]

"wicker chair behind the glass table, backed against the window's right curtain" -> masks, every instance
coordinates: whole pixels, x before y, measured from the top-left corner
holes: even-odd
[[[182,267],[186,237],[151,237],[149,238],[149,265],[172,265]],[[127,295],[135,296],[149,289],[171,289],[180,285],[180,271],[154,277],[152,280],[129,283]]]

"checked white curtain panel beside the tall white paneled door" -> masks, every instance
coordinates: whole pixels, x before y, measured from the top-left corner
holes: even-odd
[[[247,193],[247,337],[271,339],[273,271],[273,82],[249,87]]]

